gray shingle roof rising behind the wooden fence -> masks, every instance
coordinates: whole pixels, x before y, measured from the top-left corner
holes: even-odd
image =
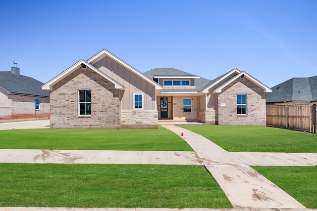
[[[317,76],[292,78],[275,85],[266,93],[266,102],[317,101]]]

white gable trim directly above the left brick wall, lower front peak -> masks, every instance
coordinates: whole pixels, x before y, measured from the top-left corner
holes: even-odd
[[[72,65],[71,67],[69,67],[68,69],[63,71],[62,73],[60,73],[58,76],[53,78],[51,81],[49,81],[48,83],[44,84],[42,86],[42,89],[51,90],[53,88],[54,84],[56,84],[57,82],[59,82],[60,80],[62,80],[63,78],[65,78],[66,76],[68,76],[69,74],[74,72],[75,70],[77,70],[78,67],[80,67],[82,64],[86,65],[87,67],[89,67],[90,69],[92,69],[93,71],[95,71],[96,73],[101,75],[102,77],[104,77],[106,80],[110,81],[112,84],[114,84],[115,88],[125,89],[125,87],[122,84],[114,81],[112,78],[107,76],[105,73],[103,73],[102,71],[98,70],[93,65],[89,64],[88,62],[86,62],[83,59],[79,60],[77,63],[75,63],[74,65]]]

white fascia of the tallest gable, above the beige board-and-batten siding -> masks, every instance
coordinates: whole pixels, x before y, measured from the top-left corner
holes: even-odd
[[[134,67],[130,66],[129,64],[125,63],[124,61],[122,61],[121,59],[119,59],[118,57],[116,57],[115,55],[113,55],[112,53],[107,51],[106,49],[103,49],[102,51],[97,53],[95,56],[93,56],[90,59],[88,59],[87,62],[92,64],[92,65],[94,65],[96,62],[98,62],[99,60],[101,60],[102,58],[104,58],[106,56],[110,57],[114,61],[116,61],[119,64],[121,64],[123,67],[127,68],[128,70],[132,71],[133,73],[135,73],[136,75],[138,75],[142,79],[144,79],[147,82],[149,82],[150,84],[154,85],[156,89],[163,89],[163,87],[161,85],[159,85],[155,81],[149,79],[143,73],[141,73],[140,71],[136,70]]]

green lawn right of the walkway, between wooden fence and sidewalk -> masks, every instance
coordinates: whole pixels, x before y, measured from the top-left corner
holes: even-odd
[[[317,135],[259,126],[180,126],[208,138],[229,152],[317,153]]]

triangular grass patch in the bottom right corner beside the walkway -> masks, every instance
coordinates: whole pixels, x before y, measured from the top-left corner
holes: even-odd
[[[302,205],[317,209],[317,167],[252,167]]]

